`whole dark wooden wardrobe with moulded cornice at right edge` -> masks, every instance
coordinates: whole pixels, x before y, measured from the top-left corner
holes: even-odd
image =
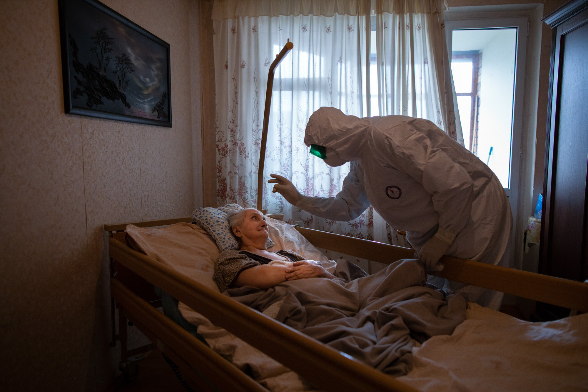
[[[553,29],[539,273],[588,279],[588,0],[543,21]],[[539,310],[539,309],[538,309]],[[564,315],[563,310],[553,310]]]

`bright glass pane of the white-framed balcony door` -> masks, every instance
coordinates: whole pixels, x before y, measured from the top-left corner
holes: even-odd
[[[452,73],[466,148],[510,184],[516,28],[454,29]]]

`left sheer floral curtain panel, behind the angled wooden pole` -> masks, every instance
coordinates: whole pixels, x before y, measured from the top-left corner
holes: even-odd
[[[216,15],[230,15],[228,6],[215,4],[213,17],[215,11]],[[365,83],[365,15],[340,15],[325,6],[321,9],[330,16],[235,15],[213,22],[217,201],[219,205],[256,205],[268,69],[290,39],[294,48],[276,68],[273,82],[263,208],[284,214],[290,224],[303,222],[305,227],[371,239],[371,208],[354,221],[324,220],[272,194],[272,186],[266,183],[270,174],[279,174],[292,180],[302,194],[330,197],[339,192],[349,172],[349,165],[329,167],[310,155],[303,139],[308,118],[322,106],[363,117],[360,92]]]

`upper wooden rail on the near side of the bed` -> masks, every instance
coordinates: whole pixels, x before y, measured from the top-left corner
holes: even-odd
[[[395,378],[216,293],[114,238],[109,239],[109,248],[116,261],[322,390],[416,392]]]

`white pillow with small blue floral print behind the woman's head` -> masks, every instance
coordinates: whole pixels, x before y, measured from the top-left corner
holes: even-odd
[[[192,218],[211,235],[221,252],[225,250],[237,250],[239,249],[239,244],[230,231],[227,212],[242,209],[243,207],[234,203],[218,208],[202,207],[192,212]],[[273,241],[268,238],[268,248],[273,245]]]

